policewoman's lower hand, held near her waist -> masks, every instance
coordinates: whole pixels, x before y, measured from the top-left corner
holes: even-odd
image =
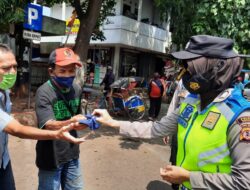
[[[165,168],[160,168],[160,175],[162,179],[175,184],[190,180],[190,172],[178,166],[167,165]]]

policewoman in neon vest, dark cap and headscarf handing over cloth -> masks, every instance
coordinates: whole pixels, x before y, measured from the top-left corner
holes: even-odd
[[[172,53],[186,72],[190,94],[157,122],[127,122],[96,110],[103,124],[132,137],[178,136],[177,166],[167,165],[164,180],[180,189],[250,189],[250,104],[233,88],[242,59],[231,39],[197,35],[184,51]]]

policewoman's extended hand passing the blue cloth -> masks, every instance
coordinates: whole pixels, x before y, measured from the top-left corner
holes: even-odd
[[[118,121],[114,120],[106,109],[95,109],[92,115],[95,115],[96,121],[104,126],[119,127]]]

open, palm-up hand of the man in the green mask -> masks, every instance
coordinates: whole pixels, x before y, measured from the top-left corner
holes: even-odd
[[[78,125],[79,125],[78,123],[72,123],[68,126],[62,127],[61,129],[56,131],[56,138],[60,140],[69,141],[74,144],[81,144],[82,142],[85,141],[84,137],[76,138],[69,133],[70,130],[77,128]]]

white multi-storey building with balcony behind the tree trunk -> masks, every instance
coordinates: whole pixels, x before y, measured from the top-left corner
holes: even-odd
[[[67,20],[73,8],[56,5],[50,16]],[[125,16],[126,15],[126,16]],[[130,67],[137,69],[137,76],[149,78],[161,72],[169,46],[168,24],[161,21],[153,0],[117,0],[115,16],[109,16],[102,27],[106,40],[90,42],[89,57],[101,65],[112,65],[116,77],[127,76]],[[41,46],[49,42],[65,43],[67,36],[42,37]],[[75,43],[70,35],[67,44]]]

